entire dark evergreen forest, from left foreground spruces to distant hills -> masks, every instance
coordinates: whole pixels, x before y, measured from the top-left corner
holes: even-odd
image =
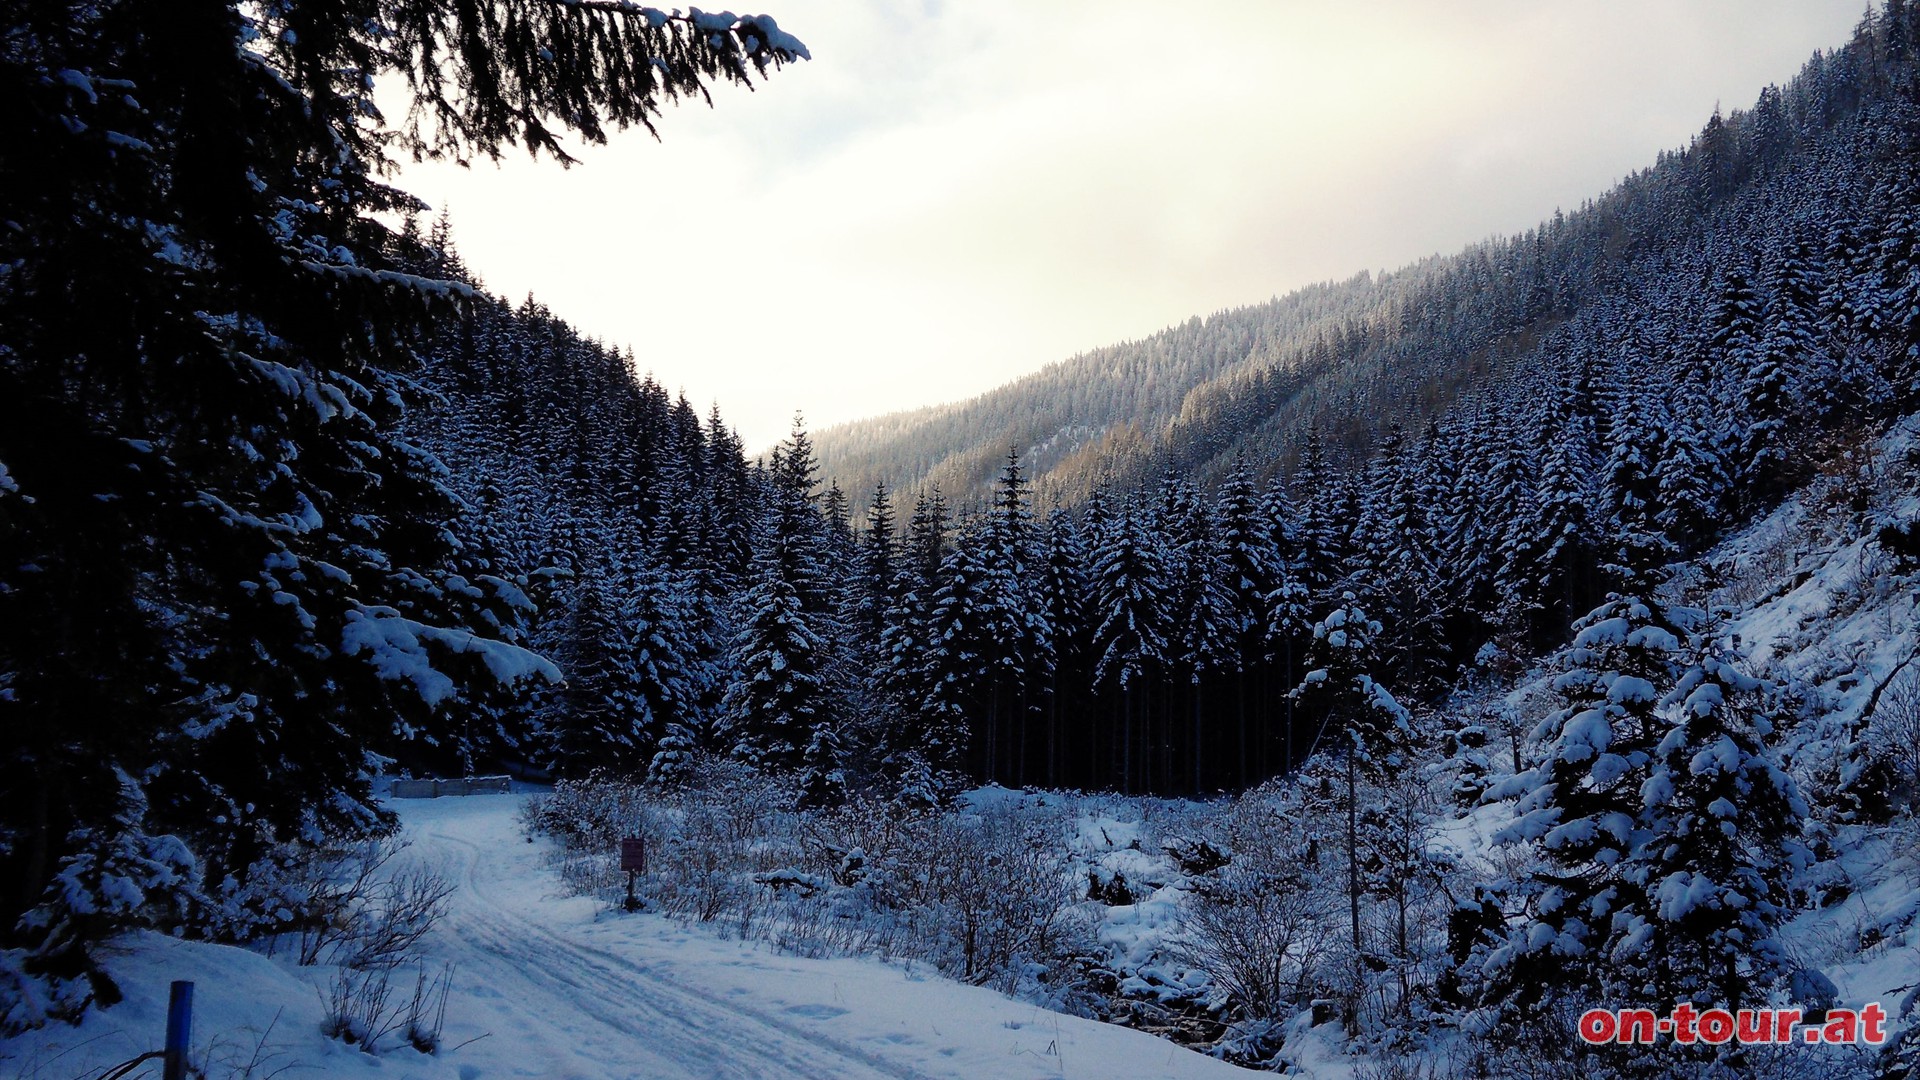
[[[1665,569],[1920,407],[1899,2],[1526,236],[835,436],[831,475],[801,421],[749,459],[643,375],[672,357],[490,296],[380,179],[651,127],[804,56],[770,19],[182,12],[10,15],[36,150],[0,165],[10,1024],[109,1001],[88,947],[119,926],[271,930],[275,869],[380,832],[394,771],[672,790],[728,755],[803,807],[927,807],[1344,751],[1352,853],[1413,713],[1582,617],[1601,651],[1611,621],[1707,632],[1642,601]],[[374,69],[422,104],[394,144]],[[998,419],[1027,400],[1041,427]]]

